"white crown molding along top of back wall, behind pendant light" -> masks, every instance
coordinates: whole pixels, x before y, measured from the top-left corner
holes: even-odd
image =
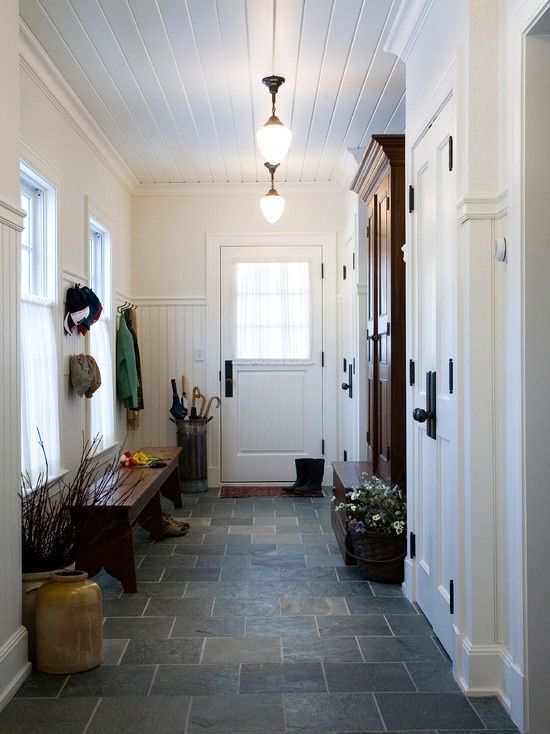
[[[158,183],[138,184],[133,196],[232,196],[257,194],[263,196],[269,183]],[[344,187],[339,183],[300,183],[277,181],[277,191],[285,194],[343,194]]]

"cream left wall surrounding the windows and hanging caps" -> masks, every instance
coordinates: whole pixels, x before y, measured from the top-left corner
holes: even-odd
[[[80,456],[86,430],[86,398],[79,398],[69,380],[69,357],[88,349],[87,338],[68,336],[62,326],[68,287],[86,284],[88,219],[94,214],[111,230],[113,305],[132,293],[130,249],[131,197],[129,188],[71,116],[69,96],[61,95],[56,80],[40,65],[35,49],[23,39],[21,89],[21,158],[51,181],[58,196],[57,338],[60,355],[61,459],[72,471]],[[117,297],[118,294],[118,297]],[[114,327],[113,319],[113,347]],[[93,328],[93,327],[92,327]],[[101,388],[99,388],[101,389]],[[93,400],[94,398],[92,398]],[[118,436],[124,437],[124,414],[118,410]]]

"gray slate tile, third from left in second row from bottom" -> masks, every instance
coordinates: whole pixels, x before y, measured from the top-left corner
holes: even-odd
[[[238,665],[160,665],[150,695],[212,696],[238,690]]]

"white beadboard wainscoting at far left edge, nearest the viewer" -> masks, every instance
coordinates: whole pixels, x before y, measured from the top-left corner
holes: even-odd
[[[19,233],[24,213],[0,202],[0,708],[30,670],[21,626]]]

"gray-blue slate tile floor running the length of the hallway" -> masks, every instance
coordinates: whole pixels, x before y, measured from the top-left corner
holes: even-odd
[[[344,567],[328,499],[217,494],[184,495],[186,537],[136,532],[138,593],[98,578],[102,666],[33,673],[0,734],[516,731],[398,586]]]

